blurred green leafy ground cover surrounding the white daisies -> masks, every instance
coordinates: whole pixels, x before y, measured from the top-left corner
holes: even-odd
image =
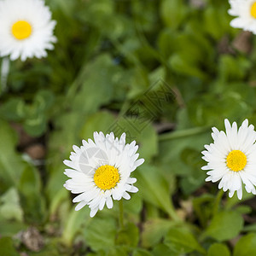
[[[218,207],[201,171],[211,126],[256,122],[256,40],[230,27],[228,1],[46,3],[55,49],[11,62],[0,98],[0,254],[254,255],[252,196]],[[125,131],[146,160],[124,204],[125,230],[117,202],[90,218],[63,188],[62,161],[93,131]],[[33,143],[43,159],[27,153]],[[29,227],[43,247],[26,244]]]

